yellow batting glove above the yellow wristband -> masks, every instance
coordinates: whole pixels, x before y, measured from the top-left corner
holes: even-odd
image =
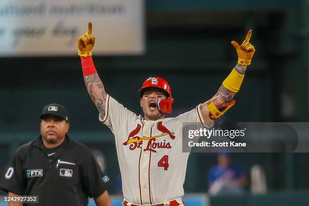
[[[241,45],[237,43],[237,41],[232,41],[231,44],[235,47],[237,56],[238,56],[238,64],[248,66],[251,64],[251,59],[254,55],[255,48],[254,46],[249,42],[250,37],[252,34],[252,30],[249,30],[245,40],[242,42]]]

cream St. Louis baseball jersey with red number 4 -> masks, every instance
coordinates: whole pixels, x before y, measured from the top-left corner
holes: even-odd
[[[106,115],[99,119],[115,135],[125,200],[158,204],[184,195],[189,153],[182,152],[182,122],[210,127],[203,123],[198,106],[175,118],[150,121],[108,95]]]

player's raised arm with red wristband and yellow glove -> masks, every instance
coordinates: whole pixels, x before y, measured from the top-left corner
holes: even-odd
[[[92,61],[92,48],[94,46],[95,37],[92,36],[92,23],[88,23],[88,32],[79,37],[77,41],[78,55],[80,56],[85,85],[87,91],[93,101],[95,107],[99,111],[101,118],[105,117],[105,103],[107,93],[105,92],[104,85],[100,80],[93,61]]]

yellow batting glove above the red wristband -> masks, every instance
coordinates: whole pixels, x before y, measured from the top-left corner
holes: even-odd
[[[92,48],[94,46],[95,37],[91,35],[92,23],[88,23],[88,32],[77,40],[78,55],[81,57],[92,56]]]

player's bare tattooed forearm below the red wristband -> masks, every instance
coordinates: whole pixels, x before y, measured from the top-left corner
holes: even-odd
[[[97,73],[84,77],[86,88],[102,117],[105,116],[107,93]]]

